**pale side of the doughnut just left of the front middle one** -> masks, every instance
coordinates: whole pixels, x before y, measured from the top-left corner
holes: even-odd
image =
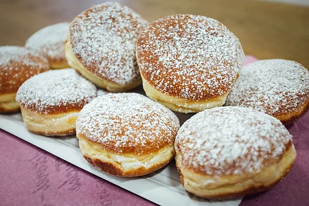
[[[42,114],[21,107],[23,123],[27,130],[45,136],[66,136],[76,133],[76,119],[80,111]]]

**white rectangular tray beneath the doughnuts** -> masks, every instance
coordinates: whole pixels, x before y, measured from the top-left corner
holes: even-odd
[[[23,125],[20,113],[0,115],[0,128],[158,205],[236,206],[242,201],[241,198],[229,201],[208,201],[187,193],[179,181],[179,174],[176,172],[174,161],[157,172],[139,178],[122,178],[105,174],[93,168],[82,157],[78,148],[78,139],[75,135],[55,138],[30,133]]]

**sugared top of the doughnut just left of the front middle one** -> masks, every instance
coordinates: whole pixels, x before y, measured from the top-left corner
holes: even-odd
[[[52,70],[25,81],[16,102],[37,113],[80,111],[97,96],[96,87],[74,69]]]

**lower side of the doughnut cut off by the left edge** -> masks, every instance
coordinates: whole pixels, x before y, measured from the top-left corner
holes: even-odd
[[[15,101],[16,93],[5,93],[0,95],[0,113],[16,113],[19,105]]]

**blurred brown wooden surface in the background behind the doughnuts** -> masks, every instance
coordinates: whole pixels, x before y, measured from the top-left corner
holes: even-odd
[[[71,21],[96,0],[1,0],[0,45],[24,45],[41,27]],[[249,0],[123,0],[148,21],[201,14],[229,27],[245,54],[296,60],[309,69],[309,7]]]

